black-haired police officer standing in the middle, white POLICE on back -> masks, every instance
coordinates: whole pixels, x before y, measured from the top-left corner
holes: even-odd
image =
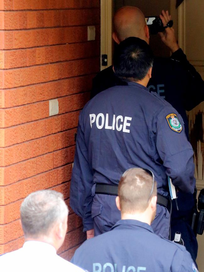
[[[152,64],[145,41],[122,41],[115,50],[114,69],[128,85],[99,93],[79,116],[70,205],[83,218],[87,237],[110,230],[119,220],[115,188],[130,167],[155,173],[159,201],[152,228],[165,238],[170,224],[167,176],[178,190],[194,192],[193,150],[182,117],[146,88]]]

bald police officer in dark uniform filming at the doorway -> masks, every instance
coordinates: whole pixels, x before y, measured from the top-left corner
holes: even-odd
[[[167,12],[160,15],[164,26],[171,20]],[[136,7],[126,6],[119,9],[113,19],[113,39],[116,43],[129,36],[139,37],[149,43],[149,31],[144,15]],[[188,62],[186,55],[177,44],[174,29],[166,28],[164,33],[159,33],[162,41],[172,52],[170,58],[155,57],[152,77],[148,82],[149,91],[157,94],[168,101],[182,116],[185,133],[189,139],[188,119],[186,110],[190,111],[200,102],[204,101],[204,82],[196,69]],[[118,79],[112,66],[101,71],[93,79],[91,97],[100,91],[115,85],[124,85],[126,82]],[[185,241],[187,250],[196,260],[198,244],[196,236],[191,229],[192,214],[194,211],[194,196],[189,193],[177,193],[177,205],[173,200],[171,215],[172,239],[176,231],[180,231]],[[178,209],[177,210],[177,206]]]

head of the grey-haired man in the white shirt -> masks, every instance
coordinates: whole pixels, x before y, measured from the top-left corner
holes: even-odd
[[[27,196],[20,208],[21,225],[25,239],[61,240],[67,230],[68,208],[62,193],[42,190]],[[57,238],[56,238],[57,237]],[[59,238],[59,239],[58,239]]]

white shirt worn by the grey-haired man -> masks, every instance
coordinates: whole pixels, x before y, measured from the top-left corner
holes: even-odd
[[[23,247],[0,256],[1,272],[84,272],[56,254],[45,242],[27,241]]]

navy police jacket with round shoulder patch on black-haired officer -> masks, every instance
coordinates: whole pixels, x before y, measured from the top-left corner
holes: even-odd
[[[170,125],[171,117],[177,130]],[[167,101],[134,82],[99,93],[80,113],[70,205],[83,218],[84,231],[93,228],[94,184],[118,184],[131,167],[153,171],[158,193],[164,196],[167,176],[181,191],[194,192],[193,150],[182,117]]]

